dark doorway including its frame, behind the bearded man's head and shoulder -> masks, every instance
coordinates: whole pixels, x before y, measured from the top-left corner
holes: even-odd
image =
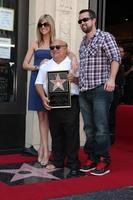
[[[88,7],[97,13],[97,28],[112,33],[133,54],[132,1],[89,0]]]

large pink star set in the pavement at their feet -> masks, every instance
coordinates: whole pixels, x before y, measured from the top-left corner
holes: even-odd
[[[41,178],[48,178],[48,179],[56,179],[60,180],[60,178],[49,174],[49,172],[53,172],[59,169],[48,170],[46,168],[36,168],[29,164],[22,164],[19,169],[2,169],[1,172],[14,174],[10,182],[14,182],[17,180],[29,178],[29,177],[41,177]]]

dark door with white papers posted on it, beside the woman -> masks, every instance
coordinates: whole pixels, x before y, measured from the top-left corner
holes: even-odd
[[[28,0],[0,0],[0,153],[25,146]]]

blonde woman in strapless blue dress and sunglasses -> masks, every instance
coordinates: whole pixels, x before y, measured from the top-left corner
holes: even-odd
[[[47,111],[44,108],[42,101],[35,89],[35,80],[38,74],[40,64],[45,59],[51,59],[50,43],[55,38],[55,23],[50,15],[42,15],[37,24],[37,41],[32,42],[23,62],[23,68],[31,71],[29,85],[29,101],[28,109],[37,111],[40,130],[40,147],[38,150],[38,162],[41,165],[46,165],[49,160],[48,148],[48,117]],[[31,64],[31,59],[34,57],[34,64]]]

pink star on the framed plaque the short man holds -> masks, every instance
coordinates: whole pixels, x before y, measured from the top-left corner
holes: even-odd
[[[55,80],[50,80],[51,83],[54,84],[53,87],[53,92],[57,89],[60,88],[61,90],[64,91],[63,83],[66,81],[66,79],[61,79],[60,75],[57,73],[56,79]]]

